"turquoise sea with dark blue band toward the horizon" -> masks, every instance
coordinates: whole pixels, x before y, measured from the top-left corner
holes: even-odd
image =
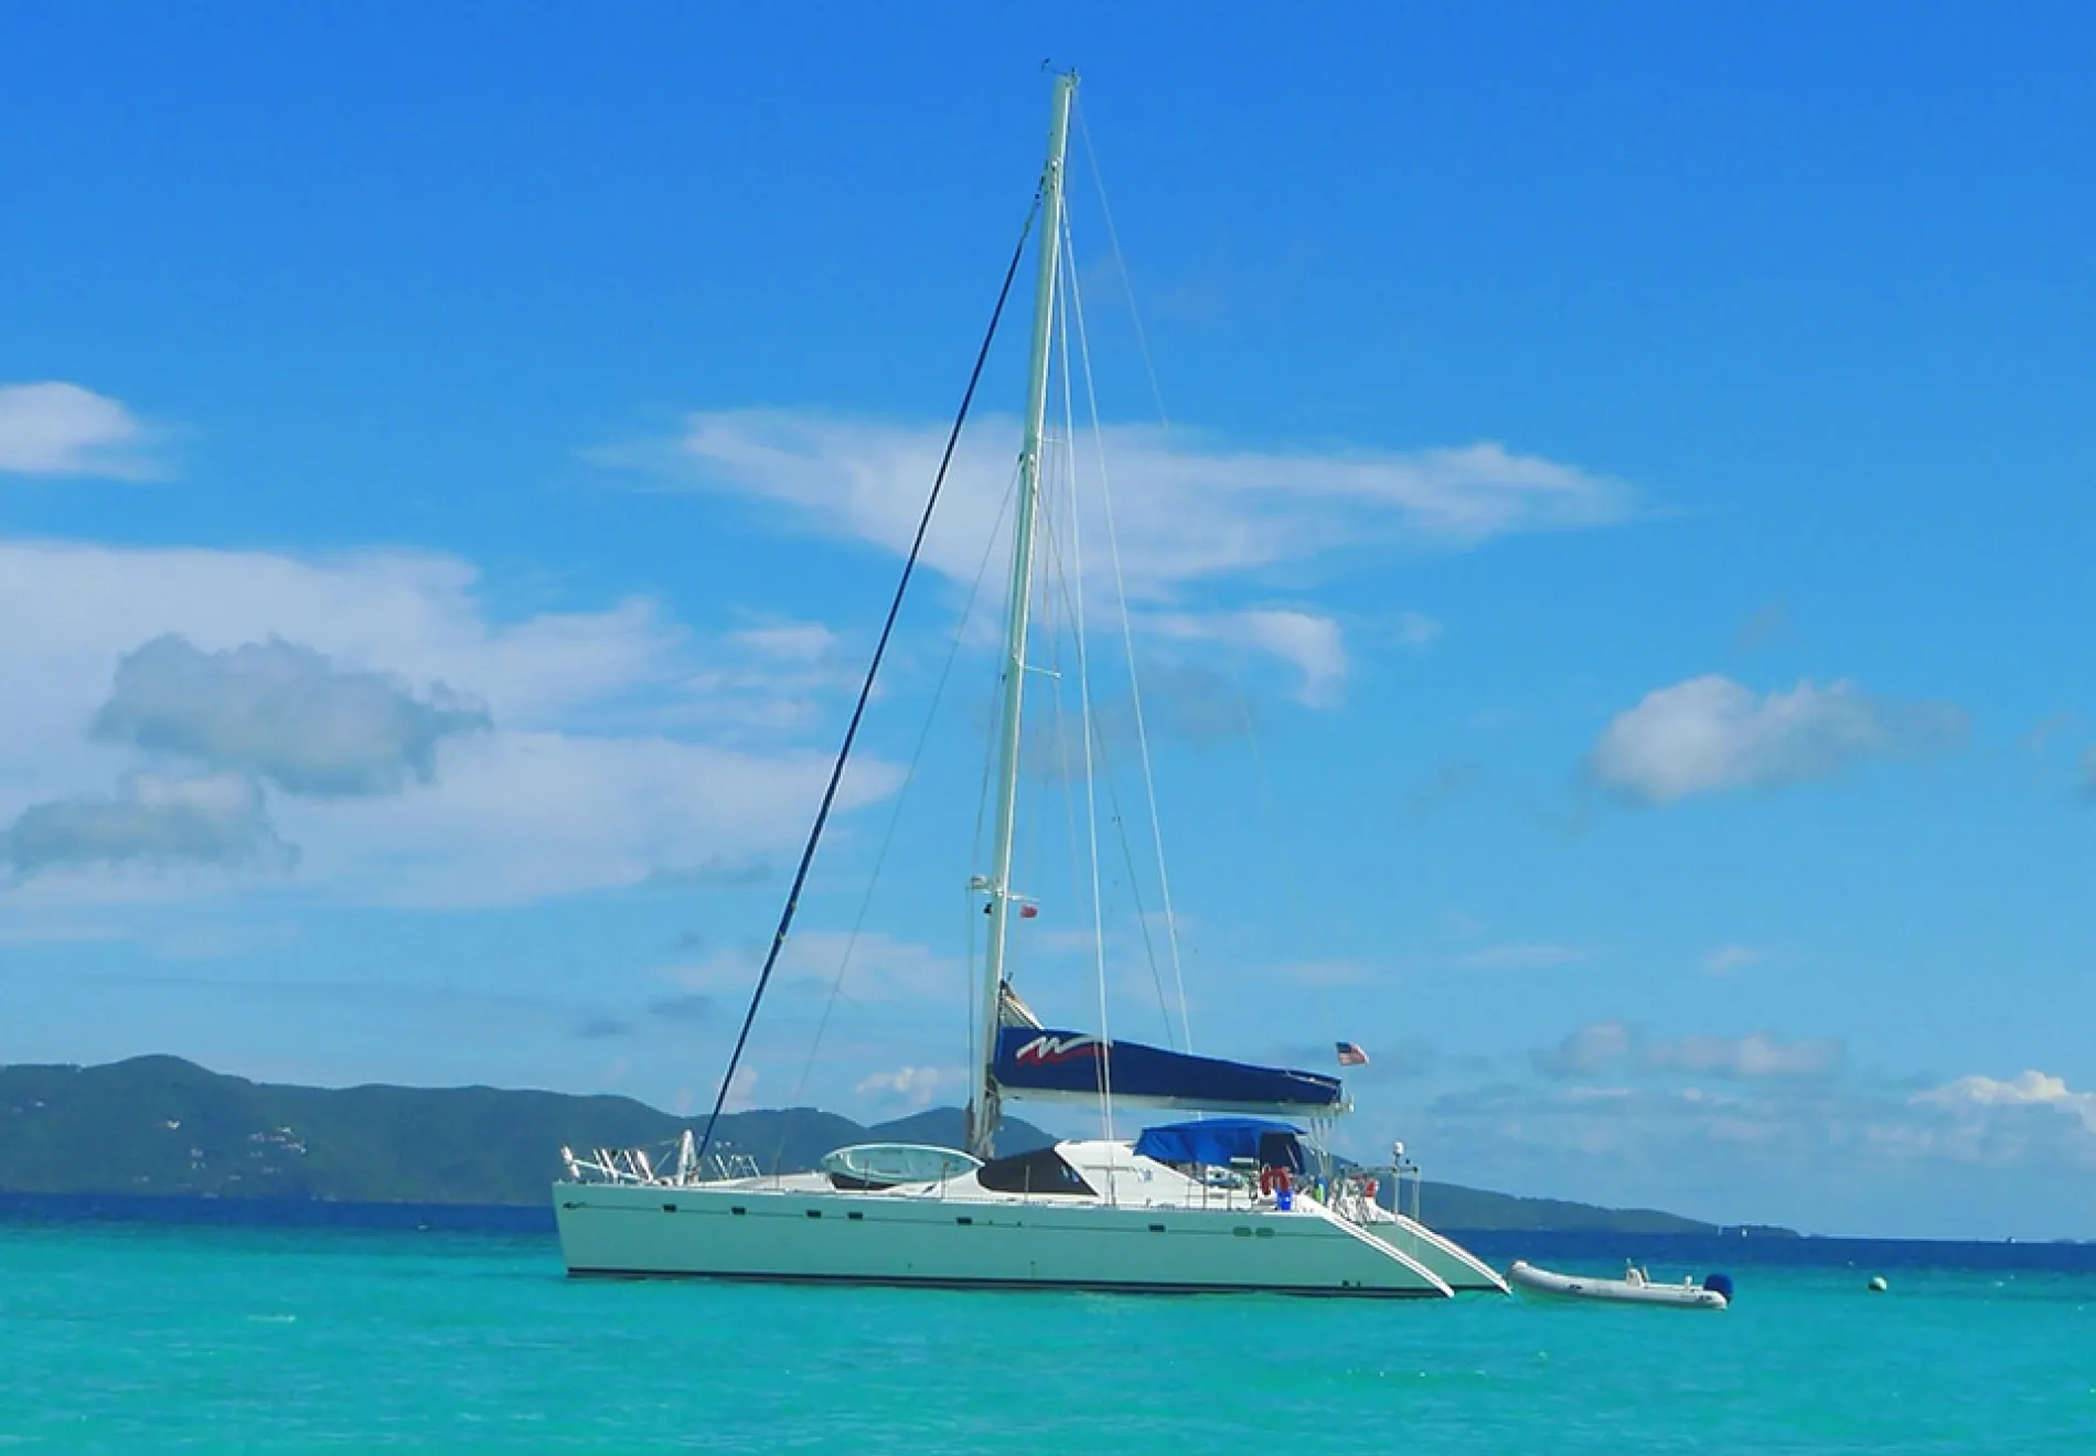
[[[595,1282],[537,1211],[0,1198],[0,1448],[2096,1454],[2092,1244],[1465,1242],[1738,1303]]]

